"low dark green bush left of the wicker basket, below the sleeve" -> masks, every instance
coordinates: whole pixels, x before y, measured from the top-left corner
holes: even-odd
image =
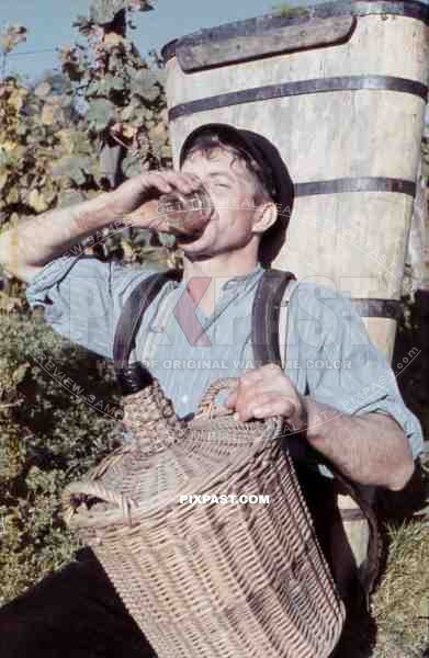
[[[41,365],[44,355],[55,376]],[[105,361],[70,345],[38,314],[0,316],[0,604],[76,548],[61,520],[61,491],[110,453],[122,431],[118,415],[83,401],[90,395],[121,410]]]

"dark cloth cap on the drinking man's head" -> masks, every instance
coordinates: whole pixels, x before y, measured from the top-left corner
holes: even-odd
[[[272,195],[274,202],[281,205],[281,209],[279,209],[280,215],[287,215],[289,218],[292,213],[294,200],[292,179],[276,147],[258,133],[222,123],[210,123],[199,126],[188,135],[183,143],[179,158],[180,167],[182,167],[196,137],[205,133],[211,135],[213,133],[217,134],[221,139],[232,146],[244,149],[258,162],[267,190]]]

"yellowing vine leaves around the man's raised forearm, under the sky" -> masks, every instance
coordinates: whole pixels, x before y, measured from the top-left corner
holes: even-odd
[[[171,164],[166,71],[155,50],[146,61],[127,37],[132,12],[150,9],[148,0],[92,0],[74,23],[83,38],[58,49],[60,72],[32,84],[0,73],[0,229]],[[22,25],[0,33],[0,55],[25,35]],[[88,252],[174,266],[173,247],[172,236],[127,228]],[[22,292],[1,272],[0,290]]]

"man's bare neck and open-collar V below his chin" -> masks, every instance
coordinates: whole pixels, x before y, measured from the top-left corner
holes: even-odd
[[[256,259],[219,258],[204,261],[183,259],[183,281],[194,302],[206,315],[212,315],[221,295],[222,284],[234,276],[249,274]]]

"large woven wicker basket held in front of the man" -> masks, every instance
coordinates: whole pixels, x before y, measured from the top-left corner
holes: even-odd
[[[125,398],[134,439],[64,492],[159,658],[323,658],[345,609],[319,549],[280,417],[235,421],[215,396],[178,420],[158,383]],[[264,495],[269,503],[180,503]]]

